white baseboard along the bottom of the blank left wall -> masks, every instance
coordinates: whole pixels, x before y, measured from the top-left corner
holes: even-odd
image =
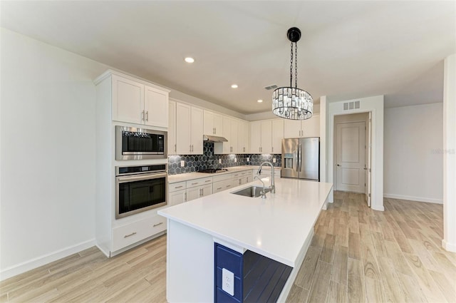
[[[23,272],[28,272],[28,270],[35,269],[37,267],[46,265],[48,263],[59,260],[63,257],[68,257],[69,255],[73,255],[76,252],[81,252],[81,250],[86,250],[89,247],[93,247],[94,245],[95,245],[95,239],[88,240],[86,242],[81,242],[81,243],[78,243],[77,245],[73,245],[71,247],[63,248],[63,250],[51,252],[47,255],[43,255],[41,257],[37,257],[35,259],[28,260],[26,262],[22,262],[18,265],[14,265],[14,266],[8,267],[6,269],[2,269],[0,271],[0,281],[14,277],[17,274],[22,274]]]

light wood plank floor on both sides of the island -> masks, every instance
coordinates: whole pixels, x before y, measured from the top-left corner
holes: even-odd
[[[287,302],[456,302],[442,205],[335,192]],[[0,282],[0,302],[166,302],[166,236],[106,258],[92,247]]]

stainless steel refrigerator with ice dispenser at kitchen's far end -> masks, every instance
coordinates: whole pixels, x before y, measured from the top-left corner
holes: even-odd
[[[320,181],[320,138],[282,140],[281,178]]]

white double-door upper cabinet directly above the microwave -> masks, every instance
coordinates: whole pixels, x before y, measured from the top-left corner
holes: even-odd
[[[168,127],[168,94],[142,81],[117,74],[112,75],[113,120]]]

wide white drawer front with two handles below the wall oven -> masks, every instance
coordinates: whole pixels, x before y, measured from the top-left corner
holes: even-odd
[[[113,252],[166,230],[165,217],[156,215],[113,228]]]

